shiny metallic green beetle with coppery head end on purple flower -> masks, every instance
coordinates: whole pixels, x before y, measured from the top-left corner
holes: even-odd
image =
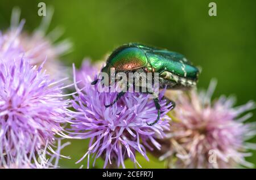
[[[110,76],[110,68],[115,72],[158,72],[160,88],[188,89],[196,85],[199,69],[184,57],[184,55],[170,52],[165,49],[154,48],[137,43],[130,43],[115,49],[106,61],[106,66],[101,72]],[[98,81],[94,80],[92,84]],[[147,93],[154,94],[152,91]],[[106,108],[117,102],[125,92],[120,92],[117,98]],[[156,121],[148,124],[150,126],[158,122],[160,118],[160,105],[158,96],[154,98],[158,117]]]

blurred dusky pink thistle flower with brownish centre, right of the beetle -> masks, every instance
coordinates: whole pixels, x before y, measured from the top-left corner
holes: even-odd
[[[170,93],[167,97],[176,102],[170,113],[171,130],[163,140],[164,151],[160,160],[168,160],[168,168],[234,168],[238,165],[252,167],[245,157],[255,144],[246,143],[255,134],[255,123],[244,123],[255,108],[254,102],[233,108],[234,98],[221,96],[211,102],[216,86],[213,81],[207,92],[192,91]],[[157,152],[155,152],[157,153]]]

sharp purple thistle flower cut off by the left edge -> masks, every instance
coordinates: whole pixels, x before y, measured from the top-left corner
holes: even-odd
[[[63,99],[61,81],[50,80],[42,68],[24,58],[0,61],[0,166],[22,163],[63,135],[69,100]]]

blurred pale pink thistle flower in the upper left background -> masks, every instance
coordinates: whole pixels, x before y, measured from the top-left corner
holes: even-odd
[[[28,33],[23,31],[25,20],[19,22],[20,9],[13,8],[10,29],[2,34],[0,32],[0,59],[10,62],[14,58],[21,58],[24,55],[29,59],[31,65],[40,66],[47,58],[43,67],[47,73],[55,79],[64,78],[64,74],[66,76],[69,73],[69,68],[63,65],[60,57],[71,51],[72,43],[69,40],[55,42],[63,34],[60,28],[46,33],[52,15],[53,9],[48,8],[47,16],[43,17],[39,27],[34,32]],[[11,51],[13,53],[10,53]]]

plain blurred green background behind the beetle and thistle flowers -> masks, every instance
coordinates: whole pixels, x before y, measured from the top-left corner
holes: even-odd
[[[255,100],[255,17],[256,1],[9,1],[0,2],[0,27],[10,25],[11,10],[18,6],[24,29],[32,31],[42,17],[38,3],[52,5],[55,13],[49,31],[63,27],[63,38],[73,41],[72,53],[63,59],[67,65],[81,64],[84,57],[102,59],[116,46],[127,42],[142,42],[184,54],[201,66],[199,88],[207,88],[210,79],[217,78],[214,97],[236,95],[237,105]],[[217,16],[209,16],[209,2],[217,3]],[[255,114],[255,110],[253,111]],[[250,121],[254,121],[255,115]],[[256,142],[256,139],[251,140]],[[84,155],[86,141],[73,140],[61,160],[63,168],[77,168],[74,162]],[[256,164],[256,153],[247,158]],[[164,168],[164,162],[154,157],[147,162],[139,157],[143,168]],[[128,161],[127,167],[133,168]],[[98,161],[96,168],[102,167]]]

